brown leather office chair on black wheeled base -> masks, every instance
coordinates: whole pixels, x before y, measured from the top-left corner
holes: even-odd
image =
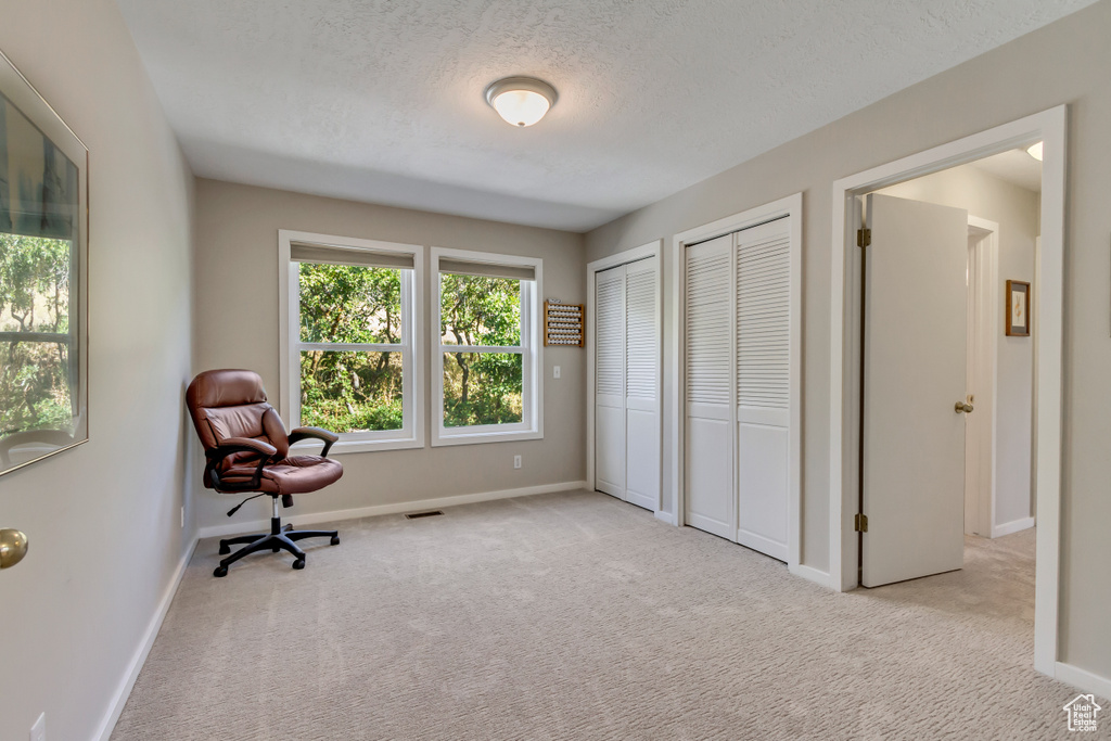
[[[304,551],[294,541],[330,538],[332,545],[339,544],[338,531],[293,530],[290,524],[282,527],[278,513],[279,497],[284,507],[292,507],[292,494],[323,489],[343,475],[339,461],[328,458],[339,435],[317,427],[299,427],[287,435],[286,425],[274,408],[267,403],[262,379],[254,371],[204,371],[186,390],[186,405],[208,459],[204,485],[226,494],[270,494],[273,500],[270,532],[221,540],[221,555],[231,553],[230,545],[248,545],[220,561],[213,575],[226,577],[229,565],[249,553],[264,550],[289,551],[296,558],[293,568],[303,569]],[[291,444],[308,438],[324,442],[320,455],[289,454]],[[228,517],[254,497],[233,507]]]

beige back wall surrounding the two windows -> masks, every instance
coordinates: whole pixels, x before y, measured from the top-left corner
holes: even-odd
[[[542,258],[542,298],[584,300],[580,234],[198,180],[194,369],[254,369],[276,405],[280,398],[279,229]],[[427,249],[424,262],[429,263]],[[432,288],[431,276],[427,278],[426,296]],[[428,313],[426,309],[426,338],[431,331]],[[431,368],[428,356],[420,377],[426,388]],[[552,378],[552,366],[561,367],[561,378]],[[343,478],[323,491],[299,497],[289,514],[296,522],[298,514],[308,512],[581,481],[585,477],[585,352],[543,348],[542,372],[543,440],[347,453],[339,459]],[[426,407],[428,437],[431,404]],[[522,455],[520,470],[513,469],[514,454]],[[196,461],[200,467],[200,459]],[[194,497],[200,527],[228,523],[224,512],[234,498],[199,487]],[[269,500],[250,502],[243,510],[237,514],[241,521],[270,517]]]

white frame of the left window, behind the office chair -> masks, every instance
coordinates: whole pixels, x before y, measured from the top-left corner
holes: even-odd
[[[356,453],[374,450],[401,450],[424,447],[424,384],[418,377],[424,370],[424,342],[420,334],[424,328],[424,248],[419,244],[380,242],[353,237],[333,237],[303,231],[278,231],[278,309],[280,317],[279,352],[281,356],[281,397],[279,412],[290,428],[299,427],[301,419],[300,363],[301,350],[314,349],[319,343],[301,342],[300,268],[290,259],[291,243],[304,242],[341,250],[367,250],[410,254],[413,269],[408,279],[401,279],[401,342],[368,344],[328,344],[330,350],[362,350],[370,352],[401,352],[402,427],[400,430],[368,430],[341,432],[333,453]],[[321,346],[322,347],[322,346]],[[317,449],[319,442],[302,442],[293,450]]]

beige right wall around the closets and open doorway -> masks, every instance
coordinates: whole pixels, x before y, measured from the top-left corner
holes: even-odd
[[[804,193],[802,558],[824,571],[833,181],[1069,103],[1061,653],[1104,678],[1111,678],[1111,581],[1091,574],[1111,563],[1109,34],[1111,1],[1104,0],[587,234],[587,259],[597,260],[653,239],[670,242],[685,229]],[[671,278],[664,277],[664,296]],[[664,327],[664,347],[674,329]],[[665,410],[671,387],[673,379],[665,378]],[[669,430],[671,420],[664,422]],[[672,441],[664,444],[668,452]]]

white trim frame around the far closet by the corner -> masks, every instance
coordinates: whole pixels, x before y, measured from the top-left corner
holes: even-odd
[[[659,422],[657,435],[657,460],[660,471],[657,480],[660,482],[657,491],[655,517],[663,510],[663,240],[658,239],[648,244],[641,244],[615,254],[611,254],[587,263],[587,484],[593,491],[598,482],[594,479],[594,306],[595,276],[602,270],[617,268],[630,262],[653,258],[655,269],[655,419]],[[622,497],[622,501],[624,498]],[[661,519],[669,520],[663,517]]]

